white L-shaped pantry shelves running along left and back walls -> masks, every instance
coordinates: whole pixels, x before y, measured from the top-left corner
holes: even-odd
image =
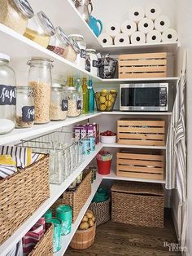
[[[40,7],[41,3],[36,0],[32,0],[31,4],[34,8],[34,11],[39,11],[41,8],[47,14],[49,14],[50,19],[54,21],[55,26],[63,24],[63,27],[66,33],[79,33],[85,37],[85,41],[87,42],[87,46],[91,46],[97,51],[102,51],[103,53],[110,52],[112,55],[120,54],[120,53],[134,53],[140,51],[168,51],[172,54],[177,52],[178,47],[180,46],[180,42],[177,43],[159,43],[159,44],[145,44],[145,45],[129,45],[129,46],[102,46],[98,41],[98,38],[94,35],[93,31],[89,28],[89,25],[86,24],[85,20],[81,18],[81,15],[74,7],[71,0],[58,0],[57,5],[53,8],[53,1],[47,0],[46,5],[43,4],[43,7]],[[62,10],[62,11],[61,11]],[[64,15],[63,15],[64,11]],[[68,22],[70,20],[70,22]],[[54,60],[54,76],[55,77],[87,77],[91,78],[94,83],[101,83],[105,86],[109,84],[120,84],[121,82],[174,82],[176,83],[179,77],[156,77],[156,78],[136,78],[136,79],[101,79],[100,77],[93,76],[89,72],[78,68],[76,64],[70,63],[68,60],[64,60],[59,55],[55,55],[55,53],[48,51],[44,47],[38,45],[35,42],[32,42],[28,38],[24,38],[24,36],[16,33],[14,30],[7,28],[3,24],[0,24],[0,46],[3,49],[3,52],[7,53],[7,55],[11,56],[11,65],[13,64],[16,67],[16,72],[23,73],[26,75],[27,66],[26,63],[33,56],[41,56],[49,58],[50,60]],[[33,126],[28,129],[18,129],[12,130],[11,133],[7,135],[0,135],[0,145],[4,145],[7,143],[15,143],[20,139],[29,139],[30,137],[41,135],[48,133],[52,130],[56,130],[62,128],[63,126],[71,126],[72,124],[78,123],[80,121],[85,121],[90,118],[98,117],[101,115],[127,115],[127,116],[171,116],[171,112],[168,113],[141,113],[141,112],[131,112],[125,113],[120,111],[114,111],[109,113],[90,113],[86,115],[81,115],[80,117],[72,117],[68,118],[65,121],[51,121],[45,125]],[[89,162],[94,159],[97,153],[102,148],[151,148],[151,149],[162,149],[166,150],[166,146],[136,146],[136,145],[122,145],[118,143],[113,144],[103,144],[99,143],[96,147],[96,150],[89,156],[85,157],[85,161],[79,166],[69,177],[62,183],[62,185],[50,185],[50,198],[47,199],[38,210],[29,217],[16,231],[13,235],[7,239],[0,246],[0,255],[6,255],[9,250],[24,236],[28,230],[33,227],[33,224],[37,222],[39,218],[43,214],[45,214],[46,210],[50,208],[50,206],[59,198],[59,196],[68,188],[70,183],[78,174],[81,173],[82,170],[85,169],[86,166],[89,165]],[[62,249],[56,253],[55,255],[63,255],[65,250],[68,248],[70,241],[72,240],[72,236],[76,232],[76,229],[81,222],[81,218],[85,214],[85,211],[89,207],[89,203],[92,201],[94,197],[94,193],[97,191],[98,186],[102,182],[103,179],[112,179],[112,180],[134,180],[138,182],[149,182],[149,183],[162,183],[165,181],[159,181],[154,179],[132,179],[126,177],[117,177],[115,173],[115,168],[112,168],[111,174],[108,175],[97,175],[97,179],[92,184],[92,192],[89,196],[88,201],[86,201],[84,207],[82,208],[76,222],[72,224],[72,232],[68,234],[68,236],[62,237]]]

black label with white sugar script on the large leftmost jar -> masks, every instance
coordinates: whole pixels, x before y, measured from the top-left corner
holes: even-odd
[[[16,104],[16,87],[0,85],[0,105]]]

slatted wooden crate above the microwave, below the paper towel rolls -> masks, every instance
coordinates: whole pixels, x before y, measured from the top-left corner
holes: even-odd
[[[167,77],[167,52],[119,55],[119,78]]]

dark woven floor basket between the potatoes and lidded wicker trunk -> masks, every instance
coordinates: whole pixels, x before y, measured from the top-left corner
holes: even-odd
[[[106,201],[92,203],[89,205],[89,210],[92,210],[94,213],[97,226],[107,223],[107,221],[111,219],[110,202],[111,199],[109,198]]]

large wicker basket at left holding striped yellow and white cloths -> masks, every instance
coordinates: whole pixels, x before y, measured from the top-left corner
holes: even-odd
[[[49,156],[0,180],[0,244],[50,196]]]

